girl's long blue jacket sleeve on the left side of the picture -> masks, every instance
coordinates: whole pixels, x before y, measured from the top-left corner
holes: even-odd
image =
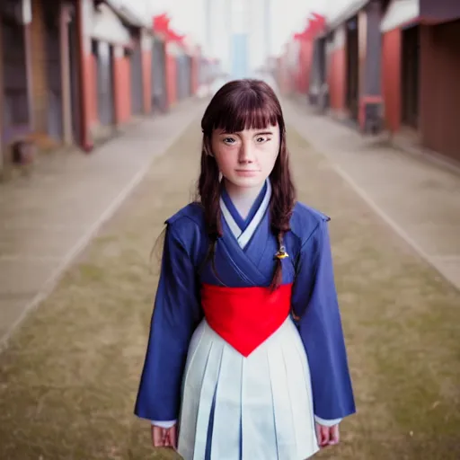
[[[196,270],[182,240],[169,225],[135,407],[148,420],[178,418],[189,343],[203,317]]]

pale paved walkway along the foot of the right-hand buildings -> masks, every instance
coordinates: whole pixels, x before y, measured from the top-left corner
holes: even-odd
[[[362,137],[308,106],[283,101],[288,122],[412,248],[460,289],[460,173]]]

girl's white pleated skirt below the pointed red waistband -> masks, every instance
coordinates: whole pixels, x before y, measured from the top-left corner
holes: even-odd
[[[308,360],[290,317],[248,358],[204,320],[182,391],[185,460],[304,460],[318,451]]]

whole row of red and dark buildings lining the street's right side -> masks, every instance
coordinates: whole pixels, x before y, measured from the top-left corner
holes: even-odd
[[[332,116],[460,161],[460,3],[342,2],[314,34],[306,57],[294,46],[299,39],[305,41],[295,37],[280,59],[282,88],[306,71],[294,90]]]

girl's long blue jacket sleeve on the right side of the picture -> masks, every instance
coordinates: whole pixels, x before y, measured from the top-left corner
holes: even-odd
[[[314,415],[324,424],[340,421],[356,408],[326,218],[302,244],[296,271],[292,306],[310,367]]]

